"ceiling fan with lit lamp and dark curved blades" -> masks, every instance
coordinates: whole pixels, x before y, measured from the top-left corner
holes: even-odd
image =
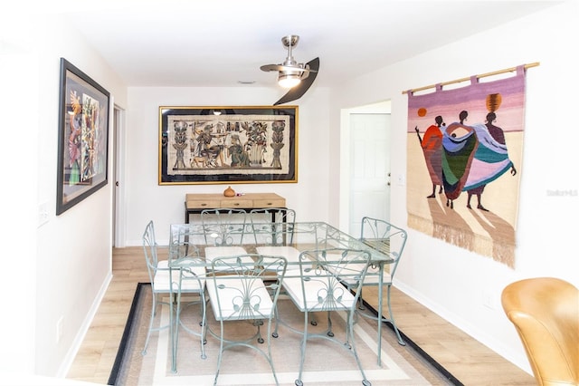
[[[319,58],[312,59],[308,63],[298,63],[293,58],[292,49],[298,45],[299,36],[289,34],[281,38],[281,43],[288,50],[288,57],[280,64],[265,64],[262,65],[261,71],[278,72],[278,83],[281,87],[289,88],[280,101],[276,101],[273,105],[295,101],[306,93],[312,85],[319,70]]]

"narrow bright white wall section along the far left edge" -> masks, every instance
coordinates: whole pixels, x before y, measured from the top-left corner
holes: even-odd
[[[21,34],[18,39],[5,39],[13,26],[0,15],[0,117],[2,120],[0,173],[3,178],[0,213],[4,227],[0,233],[3,247],[0,290],[4,296],[5,310],[0,317],[0,373],[9,369],[14,372],[32,373],[35,340],[36,295],[36,244],[35,203],[36,169],[38,165],[39,112],[23,109],[27,100],[37,100],[38,56],[26,48],[32,41],[31,34]],[[28,76],[14,76],[28,74]],[[8,92],[10,91],[10,92]],[[11,111],[26,111],[23,114]],[[32,149],[29,157],[23,157],[24,142]],[[29,170],[29,173],[23,173]],[[6,232],[6,228],[16,229]],[[23,265],[23,261],[26,262]],[[26,269],[26,275],[14,273]],[[24,284],[23,284],[24,281]],[[21,333],[17,333],[21,332]],[[31,358],[32,357],[32,358]]]

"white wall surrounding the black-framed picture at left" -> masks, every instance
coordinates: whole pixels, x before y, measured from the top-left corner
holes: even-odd
[[[87,73],[110,92],[112,102],[127,103],[125,85],[90,49],[66,18],[55,15],[43,29],[41,67],[40,158],[57,159],[58,73],[60,57]],[[112,122],[112,120],[109,120]],[[112,126],[109,126],[112,130]],[[88,329],[100,296],[111,275],[111,166],[112,131],[109,131],[109,184],[55,216],[56,163],[40,163],[39,203],[48,202],[49,222],[38,229],[36,373],[62,375]],[[48,257],[48,258],[46,258]],[[62,338],[56,342],[56,323],[62,318]]]

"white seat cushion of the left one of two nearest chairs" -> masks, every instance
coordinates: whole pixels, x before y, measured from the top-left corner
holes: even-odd
[[[261,279],[222,275],[207,285],[215,319],[266,319],[273,311],[270,293]],[[223,287],[222,287],[223,286]],[[244,301],[245,299],[245,301]]]

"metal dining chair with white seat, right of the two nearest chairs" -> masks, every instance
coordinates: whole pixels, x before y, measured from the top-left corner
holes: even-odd
[[[304,328],[301,340],[301,357],[299,362],[299,375],[295,381],[301,386],[301,380],[306,360],[308,340],[318,338],[338,343],[347,352],[354,355],[358,368],[362,374],[362,384],[369,386],[371,383],[365,376],[362,363],[356,352],[355,343],[355,314],[356,304],[359,297],[359,289],[365,277],[370,261],[370,254],[365,251],[334,248],[324,250],[305,251],[300,255],[300,275],[287,275],[282,283],[283,288],[289,294],[299,311],[304,313]],[[331,266],[332,269],[329,269]],[[342,279],[348,278],[358,283],[354,293],[342,284]],[[331,333],[330,313],[345,311],[346,336],[344,340]],[[308,332],[308,314],[314,312],[327,312],[328,329],[326,333]],[[313,358],[312,360],[316,360]],[[320,360],[320,358],[318,358]]]

